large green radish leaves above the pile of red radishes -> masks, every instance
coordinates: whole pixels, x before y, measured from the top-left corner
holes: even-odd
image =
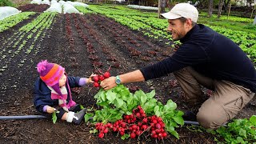
[[[95,114],[86,114],[86,122],[93,117],[93,122],[116,122],[122,119],[123,114],[130,115],[138,106],[142,106],[147,116],[157,115],[163,119],[166,124],[166,130],[173,134],[176,138],[178,133],[175,127],[184,125],[182,118],[183,112],[176,110],[177,105],[172,100],[168,100],[166,105],[158,102],[155,98],[155,90],[150,93],[144,93],[142,90],[130,93],[126,86],[118,85],[111,90],[100,89],[94,98],[97,100],[98,106],[102,106],[101,110],[96,110]],[[129,138],[129,135],[122,136],[122,139]]]

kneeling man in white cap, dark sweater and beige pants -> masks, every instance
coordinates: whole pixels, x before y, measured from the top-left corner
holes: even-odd
[[[254,65],[229,38],[197,24],[198,10],[194,6],[179,3],[162,16],[168,19],[167,30],[171,31],[172,38],[182,42],[178,50],[152,66],[107,78],[101,86],[109,90],[120,83],[142,82],[174,73],[190,103],[201,102],[201,85],[214,90],[202,103],[196,118],[205,128],[217,129],[254,97]]]

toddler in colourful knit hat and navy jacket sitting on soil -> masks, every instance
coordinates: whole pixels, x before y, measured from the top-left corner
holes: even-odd
[[[39,62],[37,66],[40,77],[34,83],[34,106],[42,114],[51,115],[58,111],[57,118],[79,124],[86,109],[80,108],[72,100],[70,88],[81,87],[93,82],[90,78],[67,76],[65,69],[56,63]]]

